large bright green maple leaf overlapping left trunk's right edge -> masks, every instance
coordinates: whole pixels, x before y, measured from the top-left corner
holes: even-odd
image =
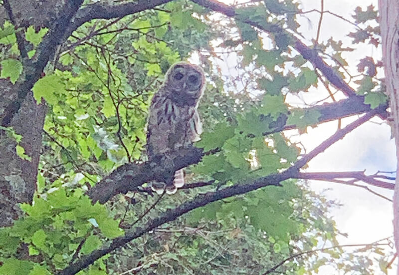
[[[33,85],[32,91],[37,104],[41,102],[41,98],[50,104],[56,104],[58,102],[57,94],[65,92],[65,85],[58,75],[49,74],[40,78]]]

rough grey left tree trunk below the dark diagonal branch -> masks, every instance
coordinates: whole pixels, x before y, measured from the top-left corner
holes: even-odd
[[[4,107],[16,95],[8,80],[0,81],[0,86],[0,113],[3,114]],[[11,225],[19,217],[19,203],[32,202],[45,114],[44,104],[37,105],[32,92],[29,92],[8,125],[22,136],[19,145],[25,149],[30,161],[16,154],[15,138],[6,131],[0,131],[0,227]]]

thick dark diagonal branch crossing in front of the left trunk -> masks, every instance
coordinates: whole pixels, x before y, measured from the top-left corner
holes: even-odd
[[[14,115],[18,112],[26,95],[40,78],[49,59],[54,55],[56,47],[63,42],[64,34],[71,18],[75,15],[82,2],[83,0],[66,1],[65,6],[59,13],[60,16],[55,20],[53,26],[39,44],[36,51],[36,61],[32,66],[24,68],[25,81],[13,87],[17,97],[5,108],[1,118],[1,126],[8,126]]]

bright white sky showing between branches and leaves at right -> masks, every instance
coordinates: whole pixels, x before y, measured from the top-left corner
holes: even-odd
[[[226,4],[233,0],[219,0]],[[300,0],[303,10],[320,9],[321,0]],[[324,0],[324,9],[337,13],[346,19],[354,21],[351,14],[357,6],[362,6],[363,10],[370,4],[378,6],[377,0]],[[319,13],[307,13],[306,17],[299,18],[301,25],[300,32],[308,42],[316,37]],[[345,36],[353,25],[330,14],[325,14],[321,26],[320,41],[326,41],[331,36],[334,38],[350,41]],[[348,44],[353,46],[351,44]],[[356,52],[350,55],[343,55],[349,64],[353,64],[351,71],[356,72],[356,65],[360,59],[371,55],[375,60],[381,59],[381,48],[374,46],[355,46]],[[233,62],[229,60],[228,62]],[[355,87],[356,88],[356,87]],[[307,103],[315,102],[319,98],[326,97],[327,92],[323,92],[323,87],[319,85],[314,91],[317,93],[302,93],[301,99]],[[316,96],[316,97],[315,97]],[[294,103],[298,98],[287,98],[290,103]],[[299,101],[298,101],[299,103]],[[343,125],[352,122],[357,117],[343,120]],[[295,140],[311,150],[320,144],[324,139],[334,134],[337,130],[337,122],[328,122],[316,128],[308,128],[308,133],[296,137]],[[309,151],[308,151],[309,152]],[[314,158],[309,163],[308,172],[343,172],[343,171],[366,171],[366,174],[374,174],[377,171],[396,170],[396,148],[395,142],[391,139],[390,127],[383,121],[374,118],[372,122],[367,122],[349,133],[344,139],[327,149],[324,153]],[[341,232],[347,233],[348,237],[341,237],[340,243],[343,244],[367,244],[377,240],[387,238],[393,234],[393,211],[392,203],[384,200],[364,189],[358,187],[345,186],[337,183],[312,181],[311,188],[322,192],[328,199],[337,200],[344,206],[333,209],[332,215],[337,222],[337,227]],[[370,186],[369,186],[370,187]],[[372,188],[389,198],[392,198],[393,191]],[[396,261],[397,262],[397,261]],[[389,271],[389,275],[394,275],[395,269]],[[331,269],[321,269],[319,274],[335,274]]]

